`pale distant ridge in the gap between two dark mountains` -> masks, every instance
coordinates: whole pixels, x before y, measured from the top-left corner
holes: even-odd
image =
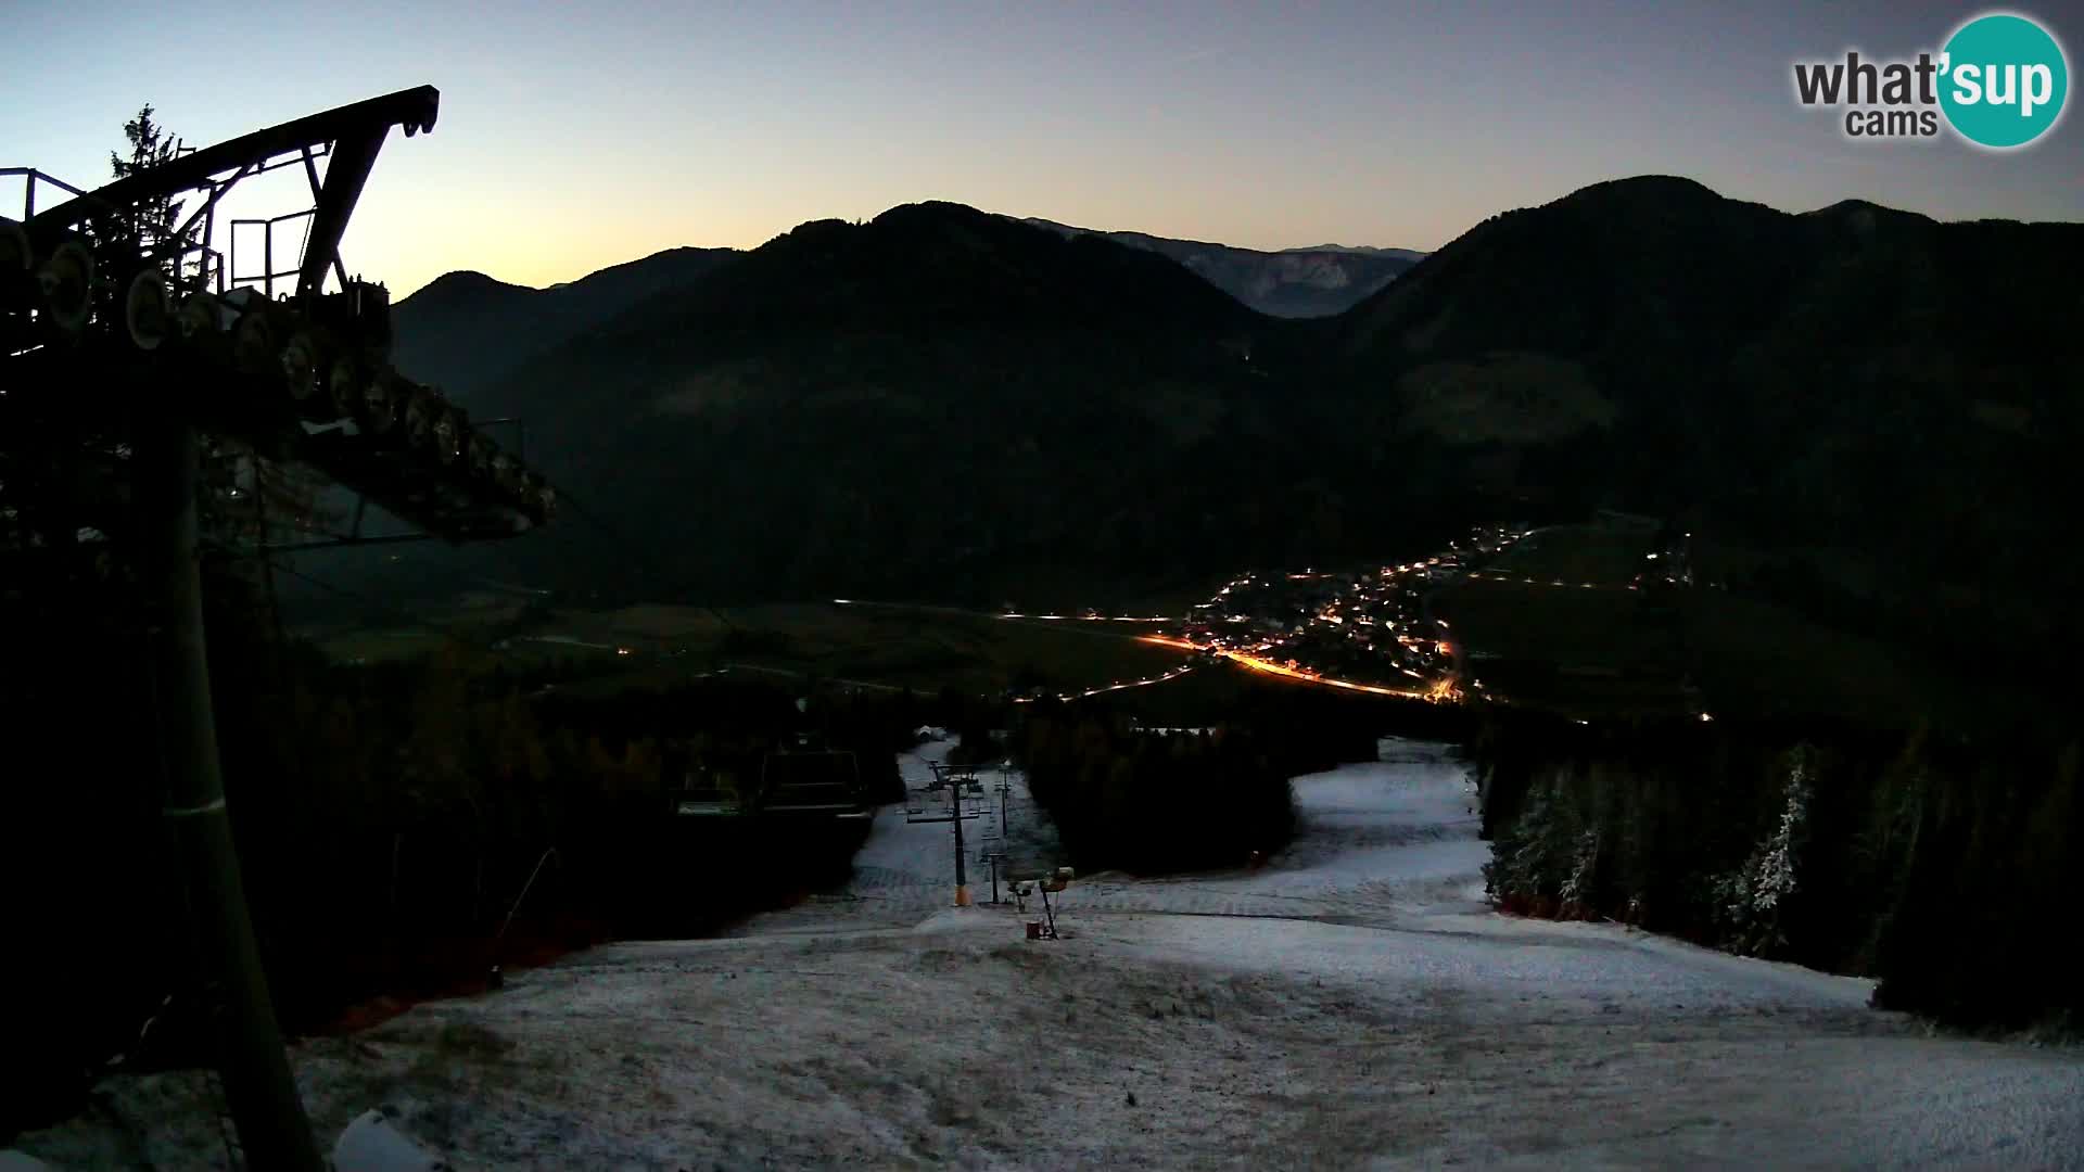
[[[1021,223],[1063,236],[1102,236],[1115,244],[1171,257],[1215,288],[1273,317],[1342,313],[1425,257],[1409,248],[1346,248],[1340,244],[1259,252],[1144,231],[1094,231],[1048,219],[1023,219]]]

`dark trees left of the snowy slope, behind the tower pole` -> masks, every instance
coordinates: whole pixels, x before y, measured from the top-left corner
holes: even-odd
[[[4,774],[25,830],[6,851],[27,959],[6,1007],[8,1068],[38,1086],[0,1112],[0,1134],[77,1109],[115,1055],[213,1057],[198,1028],[213,995],[160,817],[140,613],[123,573],[0,605]],[[292,1032],[369,999],[483,988],[494,963],[713,932],[844,880],[863,824],[784,836],[675,817],[671,790],[690,774],[756,778],[769,751],[815,732],[890,799],[892,751],[936,717],[932,697],[821,694],[798,711],[796,688],[727,678],[567,697],[461,642],[346,667],[277,638],[267,613],[250,565],[206,563],[227,807]]]

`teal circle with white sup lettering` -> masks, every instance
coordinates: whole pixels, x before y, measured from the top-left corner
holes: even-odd
[[[2009,150],[2034,142],[2061,121],[2067,96],[2063,46],[2026,17],[1976,17],[1942,50],[1940,108],[1978,146]]]

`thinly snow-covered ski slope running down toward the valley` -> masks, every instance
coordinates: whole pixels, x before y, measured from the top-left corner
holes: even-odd
[[[1015,853],[1055,865],[1013,795]],[[2084,1166],[2074,1051],[1930,1036],[1861,980],[1492,915],[1440,747],[1386,742],[1296,795],[1305,832],[1265,868],[1082,878],[1044,943],[1011,907],[950,907],[948,826],[892,807],[811,905],[311,1041],[298,1076],[325,1134],[381,1105],[458,1168]],[[113,1103],[142,1139],[75,1120],[21,1149],[221,1159],[204,1080]]]

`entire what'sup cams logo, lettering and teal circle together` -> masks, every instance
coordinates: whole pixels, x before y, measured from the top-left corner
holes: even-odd
[[[1984,150],[2013,150],[2046,138],[2069,96],[2069,60],[2040,23],[1986,13],[1963,23],[1944,48],[1915,60],[1794,63],[1794,98],[1842,108],[1855,140],[1938,138],[1951,127]]]

